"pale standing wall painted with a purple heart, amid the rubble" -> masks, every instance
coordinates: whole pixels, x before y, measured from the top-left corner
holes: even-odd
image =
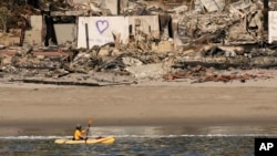
[[[140,25],[135,25],[135,20]],[[79,17],[78,23],[78,48],[86,48],[85,24],[89,28],[89,46],[103,45],[114,42],[113,34],[120,34],[121,43],[129,42],[129,25],[132,25],[132,32],[135,30],[158,38],[160,23],[157,15],[141,17]],[[151,30],[151,31],[150,31]]]

